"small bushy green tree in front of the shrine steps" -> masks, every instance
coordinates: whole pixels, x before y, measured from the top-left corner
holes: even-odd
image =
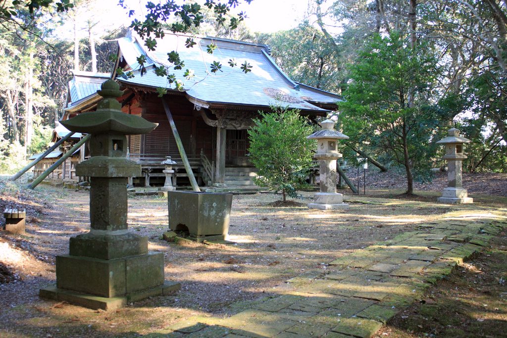
[[[315,142],[306,138],[313,128],[299,110],[272,109],[269,114],[261,112],[262,119],[253,120],[248,130],[249,156],[259,170],[256,184],[281,191],[285,202],[306,185]]]

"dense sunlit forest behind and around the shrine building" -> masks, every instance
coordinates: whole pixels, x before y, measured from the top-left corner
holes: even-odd
[[[114,66],[115,39],[128,27],[101,20],[97,0],[71,3],[67,11],[32,14],[22,2],[0,4],[2,173],[48,146],[73,71]],[[247,4],[240,8],[248,13]],[[194,33],[268,44],[289,77],[344,95],[338,122],[352,136],[344,153],[350,162],[360,148],[407,177],[427,179],[429,167],[443,165],[435,142],[456,126],[473,141],[467,170],[507,171],[506,0],[309,0],[297,27],[274,33],[242,22],[217,26],[216,14],[203,11]]]

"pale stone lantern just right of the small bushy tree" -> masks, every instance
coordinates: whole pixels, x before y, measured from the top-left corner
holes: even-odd
[[[316,160],[320,160],[320,192],[315,194],[315,203],[308,204],[310,209],[332,210],[347,209],[343,195],[336,192],[336,160],[342,157],[338,153],[338,140],[348,136],[334,129],[335,122],[325,120],[320,123],[321,130],[308,136],[317,140]]]

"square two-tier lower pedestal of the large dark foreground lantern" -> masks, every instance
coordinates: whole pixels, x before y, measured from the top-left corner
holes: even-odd
[[[57,256],[56,276],[56,287],[41,289],[41,297],[102,310],[166,295],[180,287],[164,281],[162,252],[116,259]]]

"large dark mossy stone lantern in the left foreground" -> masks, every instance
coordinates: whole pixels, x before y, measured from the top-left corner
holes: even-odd
[[[69,254],[56,257],[56,287],[42,297],[91,309],[114,310],[129,302],[179,288],[164,281],[162,252],[148,252],[148,239],[127,227],[127,177],[141,166],[126,159],[129,134],[146,134],[157,124],[121,111],[123,94],[113,80],[97,91],[97,110],[63,121],[70,131],[88,133],[91,158],[76,166],[90,177],[90,232],[70,238]]]

